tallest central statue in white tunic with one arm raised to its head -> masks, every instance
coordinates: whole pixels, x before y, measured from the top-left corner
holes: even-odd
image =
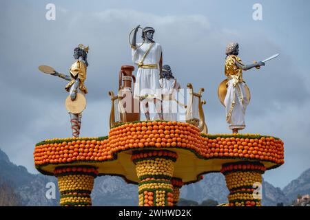
[[[140,26],[136,28],[138,30]],[[159,79],[162,67],[162,49],[159,43],[153,41],[154,28],[143,28],[143,43],[136,43],[136,32],[132,43],[132,61],[138,65],[134,98],[142,100],[141,111],[149,117],[149,102],[154,102],[156,113],[163,120],[161,109],[161,86]]]

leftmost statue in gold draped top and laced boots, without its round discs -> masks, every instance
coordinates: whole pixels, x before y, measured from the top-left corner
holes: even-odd
[[[77,94],[81,94],[83,96],[87,94],[87,89],[84,85],[88,66],[87,53],[88,47],[80,44],[79,47],[74,49],[73,56],[76,59],[76,62],[73,63],[70,67],[70,76],[61,74],[56,71],[54,74],[52,74],[54,76],[59,76],[60,78],[70,81],[70,83],[65,86],[65,90],[70,93],[70,98],[72,101],[76,100]],[[68,113],[70,114],[72,136],[79,137],[82,113],[72,113],[70,111],[68,111]]]

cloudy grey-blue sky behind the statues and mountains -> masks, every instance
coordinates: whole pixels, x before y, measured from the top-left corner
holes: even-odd
[[[242,132],[274,135],[285,142],[285,164],[264,175],[274,186],[283,187],[310,168],[310,1],[0,2],[0,148],[15,164],[36,173],[34,144],[70,137],[66,82],[41,74],[37,67],[45,64],[68,73],[79,43],[90,46],[81,136],[107,135],[107,92],[116,91],[121,65],[132,65],[128,34],[141,24],[155,28],[163,61],[180,84],[205,88],[209,133],[230,133],[217,97],[225,78],[227,42],[240,44],[244,63],[280,53],[259,71],[244,73],[251,103]],[[48,3],[56,6],[54,21],[45,19]],[[252,17],[254,3],[262,5],[262,21]]]

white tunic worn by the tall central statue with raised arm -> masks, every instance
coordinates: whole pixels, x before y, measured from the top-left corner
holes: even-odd
[[[141,45],[138,44],[137,47]],[[138,65],[143,55],[147,52],[150,43],[144,43],[141,47],[132,49],[132,61]],[[134,98],[158,98],[161,99],[161,87],[159,85],[159,61],[161,60],[161,45],[154,43],[152,49],[145,57],[144,65],[157,65],[157,69],[138,68],[136,83],[134,84]]]

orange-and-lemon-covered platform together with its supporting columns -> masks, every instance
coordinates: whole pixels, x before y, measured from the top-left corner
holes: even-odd
[[[257,184],[284,163],[282,140],[265,135],[207,135],[186,122],[128,122],[107,137],[45,140],[34,149],[39,172],[58,178],[61,206],[90,206],[94,178],[138,184],[139,206],[175,206],[183,184],[225,175],[229,206],[260,206]]]

